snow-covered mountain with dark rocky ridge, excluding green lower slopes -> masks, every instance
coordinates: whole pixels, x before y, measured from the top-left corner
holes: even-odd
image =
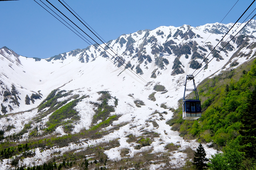
[[[34,153],[32,157],[19,159],[19,165],[40,165],[50,160],[53,152],[58,152],[59,156],[68,151],[82,152],[89,145],[113,141],[116,138],[119,138],[120,145],[104,151],[110,160],[120,160],[120,153],[124,148],[129,149],[126,156],[130,157],[145,151],[165,153],[165,146],[170,143],[179,144],[179,150],[187,146],[195,149],[198,144],[194,140],[184,141],[177,132],[170,130],[171,127],[165,122],[172,118],[173,109],[178,107],[178,100],[183,97],[185,76],[195,71],[232,25],[215,23],[197,27],[160,26],[155,30],[123,34],[116,40],[108,41],[109,48],[102,44],[101,47],[108,52],[94,45],[47,59],[23,57],[7,47],[1,48],[0,126],[5,137],[20,133],[26,124],[30,124],[30,128],[16,143],[31,138],[35,128],[39,134],[35,138],[67,135],[63,130],[65,125],[61,123],[51,133],[44,132],[49,128],[49,120],[56,110],[51,109],[61,102],[63,106],[76,100],[78,95],[80,98],[74,109],[79,119],[70,121],[71,116],[62,120],[69,121],[72,125],[70,134],[90,129],[112,115],[118,115],[118,119],[103,129],[109,131],[106,135],[98,139],[82,137],[79,139],[79,145],[73,142],[64,147],[53,146],[43,150],[40,147],[35,148],[31,150]],[[242,26],[244,23],[236,24],[228,35],[236,33]],[[254,58],[255,26],[256,20],[245,26],[207,67],[198,73],[196,83],[222,70],[236,68]],[[228,36],[224,41],[227,38]],[[226,45],[224,41],[221,42],[224,43],[222,47]],[[211,59],[212,55],[209,55],[204,64]],[[162,89],[156,89],[156,85],[161,85],[158,87]],[[53,90],[59,90],[61,93]],[[50,100],[47,95],[51,92],[53,96],[57,96],[56,105],[46,106],[40,110],[40,106],[43,105],[40,103]],[[95,122],[95,110],[104,103],[99,99],[104,92],[110,95],[107,104],[112,106],[114,111],[110,112],[107,118]],[[121,127],[111,130],[120,124]],[[152,143],[149,146],[134,149],[137,143],[126,141],[129,138],[127,135],[139,137],[143,136],[145,131],[158,134],[157,137],[150,138]],[[204,146],[206,147],[206,144]],[[215,152],[211,148],[205,150],[208,157]],[[148,167],[157,169],[167,165],[180,166],[184,165],[185,158],[186,153],[174,151],[169,155],[169,159],[172,160],[169,164],[160,162]],[[3,162],[0,162],[1,169],[9,168],[11,165],[7,162],[11,161],[11,158],[3,159]],[[178,162],[181,164],[178,165]]]

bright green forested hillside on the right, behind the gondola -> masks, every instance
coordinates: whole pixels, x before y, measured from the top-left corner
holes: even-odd
[[[255,87],[256,60],[224,71],[198,85],[197,91],[203,103],[201,118],[182,120],[179,107],[167,124],[172,130],[178,130],[184,139],[212,142],[212,147],[223,151],[213,156],[211,169],[255,168]]]

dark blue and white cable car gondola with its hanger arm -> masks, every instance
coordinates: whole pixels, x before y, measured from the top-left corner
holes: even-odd
[[[187,81],[193,80],[194,89],[187,89]],[[184,84],[184,96],[182,104],[182,119],[183,120],[196,120],[201,117],[201,101],[199,100],[196,84],[193,75],[187,75],[186,82]],[[196,93],[196,99],[185,99],[186,91],[194,91]]]

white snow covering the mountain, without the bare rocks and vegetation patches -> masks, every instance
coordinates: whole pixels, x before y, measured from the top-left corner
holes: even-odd
[[[253,22],[255,23],[255,20],[253,20]],[[184,25],[183,27],[185,30],[183,29],[183,27],[158,27],[153,31],[149,31],[148,38],[151,36],[155,36],[158,39],[157,44],[162,45],[166,41],[171,40],[171,38],[166,39],[169,33],[172,33],[173,35],[177,31],[177,29],[185,32],[188,27],[191,27],[192,31],[195,34],[199,34],[201,38],[194,37],[191,40],[189,39],[189,41],[196,41],[197,44],[201,46],[203,42],[207,39],[207,37],[211,34],[207,32],[206,29],[210,30],[211,28],[215,28],[217,24],[218,23],[206,24],[204,26],[199,26],[196,28]],[[224,24],[224,26],[227,27],[231,27],[231,25],[232,24]],[[237,28],[238,25],[239,24],[237,24],[235,28]],[[226,28],[223,27],[223,30],[225,29]],[[158,30],[164,32],[164,38],[161,38],[161,35],[156,35],[156,32]],[[253,33],[254,29],[252,27],[248,26],[246,27],[246,30],[249,31],[251,35],[256,36],[256,33]],[[141,34],[139,34],[140,32],[136,32],[137,35],[134,35],[133,33],[130,34],[131,37],[136,41],[134,43],[134,47],[139,47],[139,45],[143,43],[143,37],[146,32],[147,31],[141,31]],[[120,38],[123,37],[126,39],[130,35],[121,35]],[[209,44],[214,47],[218,43],[216,39],[221,40],[222,35],[223,34],[214,34],[214,36],[211,36],[207,41],[210,41],[211,43]],[[176,42],[178,45],[186,43],[186,41],[182,40],[180,36],[178,36],[177,38],[178,39],[174,39],[173,41]],[[132,72],[128,69],[122,72],[121,69],[114,66],[110,61],[108,61],[108,59],[98,57],[100,55],[100,52],[94,52],[93,48],[90,48],[90,51],[86,51],[85,53],[89,56],[93,54],[94,56],[97,56],[97,58],[94,57],[92,59],[90,57],[88,63],[79,62],[79,58],[81,57],[80,55],[82,55],[84,51],[78,53],[76,56],[72,56],[69,55],[69,53],[66,53],[67,56],[65,60],[52,59],[52,61],[50,62],[47,62],[46,59],[42,59],[41,61],[36,62],[35,59],[19,56],[19,63],[17,61],[17,57],[13,54],[10,55],[4,53],[8,56],[7,58],[0,55],[1,63],[4,63],[0,66],[0,78],[1,81],[3,81],[4,83],[4,85],[2,85],[1,87],[2,89],[10,89],[11,91],[12,85],[14,84],[17,92],[19,92],[18,95],[21,99],[19,100],[20,107],[12,105],[13,110],[8,110],[8,115],[6,115],[5,117],[3,116],[0,119],[1,128],[5,128],[6,126],[12,124],[15,127],[9,131],[6,131],[4,136],[20,132],[24,128],[25,124],[28,123],[31,124],[32,128],[35,128],[36,126],[46,128],[45,123],[49,120],[49,116],[51,114],[45,116],[41,122],[33,122],[33,118],[40,114],[37,113],[36,107],[46,98],[46,96],[53,89],[66,90],[67,92],[73,90],[72,95],[79,94],[80,97],[83,95],[89,95],[88,98],[84,98],[82,101],[78,102],[75,107],[78,115],[80,116],[80,120],[73,124],[75,126],[72,131],[73,134],[79,133],[81,129],[89,129],[91,127],[92,117],[95,112],[94,106],[90,104],[90,102],[99,102],[97,99],[100,97],[100,95],[97,92],[100,91],[109,91],[112,97],[116,97],[116,99],[118,99],[118,105],[115,107],[115,112],[112,112],[111,115],[121,116],[118,120],[114,121],[111,125],[102,130],[110,131],[113,127],[119,124],[123,125],[118,130],[110,131],[110,133],[100,139],[80,139],[80,144],[70,143],[68,146],[62,148],[52,147],[50,149],[45,149],[42,152],[40,151],[40,149],[42,148],[35,148],[32,151],[36,155],[32,158],[24,158],[20,160],[19,165],[41,165],[44,162],[47,162],[47,160],[52,157],[53,153],[56,156],[62,156],[63,154],[65,154],[65,152],[69,151],[82,152],[90,145],[96,146],[99,143],[108,143],[110,140],[115,140],[116,138],[120,138],[118,140],[120,146],[116,148],[111,148],[110,150],[104,152],[111,160],[122,159],[120,152],[124,148],[129,149],[129,154],[127,154],[126,156],[133,157],[140,152],[149,150],[152,150],[151,153],[155,154],[165,153],[167,152],[167,150],[165,150],[164,147],[167,144],[173,143],[179,144],[180,148],[178,151],[170,153],[170,158],[172,160],[169,163],[173,166],[180,167],[184,165],[184,161],[187,157],[186,153],[182,153],[180,151],[186,149],[187,147],[196,150],[198,146],[196,140],[183,140],[182,137],[179,136],[178,132],[172,131],[171,127],[165,123],[172,118],[173,113],[168,109],[160,107],[161,104],[165,104],[167,107],[174,109],[178,107],[178,100],[183,97],[184,93],[183,80],[187,74],[194,72],[193,69],[189,68],[189,62],[191,61],[192,54],[188,55],[188,59],[185,58],[185,55],[180,56],[179,60],[182,63],[182,65],[180,66],[185,71],[185,73],[175,76],[171,76],[171,73],[173,66],[172,62],[174,61],[176,56],[174,56],[174,54],[164,54],[163,58],[168,59],[169,64],[164,64],[163,70],[158,69],[156,71],[157,77],[154,79],[150,78],[152,72],[157,68],[156,64],[154,63],[154,58],[156,58],[156,55],[151,54],[152,44],[148,43],[145,46],[145,49],[143,49],[143,54],[149,55],[153,60],[152,63],[146,64],[145,62],[139,63],[136,57],[132,58],[134,57],[134,54],[130,54],[130,52],[125,51],[126,43],[123,44],[123,47],[121,48],[120,44],[115,42],[115,40],[112,41],[110,46],[116,49],[116,51],[118,51],[118,53],[124,57],[126,63],[130,61],[132,65],[135,65],[134,68],[136,68],[136,66],[140,64],[140,68],[144,73],[143,75],[140,75],[141,78],[145,79],[146,82],[150,82],[147,86],[145,86],[147,83],[142,82],[141,79],[133,75]],[[249,42],[251,43],[253,42],[253,40],[250,40]],[[232,41],[231,44],[235,48],[237,47],[236,44]],[[208,47],[206,47],[206,43],[202,47],[207,49],[208,52],[205,52],[206,54],[210,52]],[[252,55],[255,53],[255,51],[255,49],[252,50]],[[124,55],[125,52],[127,55]],[[243,48],[240,52],[244,53],[245,55],[250,54],[250,51],[246,48]],[[202,80],[209,76],[214,76],[221,73],[222,70],[230,69],[230,65],[233,62],[238,63],[238,65],[233,68],[239,67],[240,64],[248,61],[252,56],[238,56],[235,58],[231,58],[234,53],[234,50],[227,51],[227,56],[226,52],[221,51],[220,55],[223,57],[223,60],[218,61],[214,58],[211,63],[208,64],[208,69],[202,70],[196,76],[196,84],[200,83]],[[84,56],[85,59],[85,55],[82,56]],[[110,56],[110,58],[112,57]],[[211,60],[211,55],[209,55],[208,58],[209,60]],[[94,59],[95,61],[93,61]],[[196,61],[198,61],[198,63],[201,63],[203,60],[196,59]],[[135,69],[133,69],[133,71],[134,70]],[[129,73],[130,75],[127,73]],[[156,101],[149,100],[148,96],[152,92],[155,92],[153,90],[153,87],[157,84],[164,85],[168,92],[164,94],[161,94],[161,92],[156,92]],[[39,90],[41,90],[40,93],[43,94],[42,99],[35,100],[35,104],[32,104],[30,102],[30,105],[25,105],[24,99],[26,95],[28,94],[28,96],[30,96],[32,93],[38,93]],[[128,96],[128,94],[133,95],[131,97]],[[60,98],[58,99],[58,101],[61,102],[67,100],[69,97],[70,96]],[[4,98],[0,96],[0,100],[3,99]],[[145,106],[136,107],[134,101],[137,99],[143,101],[145,103]],[[3,104],[7,106],[8,102],[4,102]],[[109,100],[108,104],[114,106],[114,100]],[[46,110],[47,109],[49,108],[46,108]],[[153,114],[155,110],[159,113],[166,111],[167,115],[162,114],[162,119],[159,114]],[[158,126],[154,127],[152,122],[148,122],[149,120],[155,121]],[[139,150],[134,149],[134,146],[138,145],[137,143],[126,142],[126,140],[128,139],[126,137],[127,135],[133,134],[136,137],[140,137],[144,131],[152,131],[158,133],[159,137],[153,138],[150,146],[144,146]],[[38,132],[41,133],[42,131],[39,130]],[[20,142],[28,139],[29,133],[30,131],[24,134],[23,139],[21,139]],[[60,134],[59,136],[66,135],[62,126],[57,127],[55,133]],[[208,158],[216,153],[216,150],[208,148],[207,144],[204,144],[204,149]],[[12,159],[4,159],[2,162],[0,162],[0,169],[8,169],[10,165],[7,165],[7,163],[10,163],[11,160]],[[157,169],[161,166],[164,166],[164,164],[152,164],[150,166],[150,169]]]

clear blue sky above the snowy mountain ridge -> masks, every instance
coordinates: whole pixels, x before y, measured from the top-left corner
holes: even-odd
[[[65,11],[57,0],[49,1]],[[64,1],[109,41],[122,34],[159,26],[196,27],[220,22],[237,0]],[[239,0],[222,23],[236,22],[252,1]],[[256,2],[250,12],[254,8]],[[6,46],[19,55],[48,58],[88,46],[33,0],[0,1],[0,16],[0,48]]]

